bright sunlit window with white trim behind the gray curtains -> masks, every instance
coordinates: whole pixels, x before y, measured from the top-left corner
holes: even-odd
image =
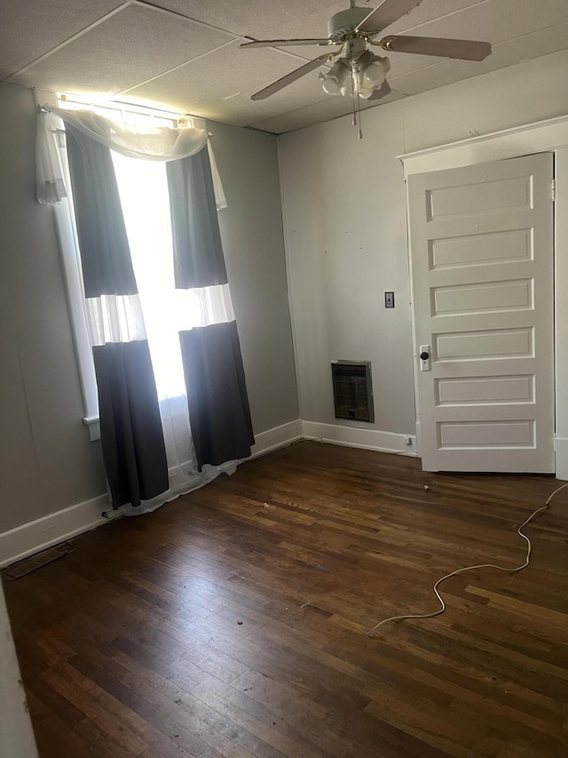
[[[91,105],[81,98],[59,97],[62,108],[91,108],[100,116],[152,126],[177,126],[177,116],[153,112],[147,108],[122,107],[118,104]],[[201,124],[187,123],[201,126]],[[70,180],[65,149],[64,130],[59,133],[59,148],[67,192]],[[217,208],[225,207],[225,195],[218,177],[215,158],[209,146],[209,157],[216,188]],[[151,350],[158,395],[162,402],[175,404],[185,394],[185,379],[179,354],[178,331],[213,321],[230,321],[233,308],[227,291],[217,293],[180,291],[174,286],[173,254],[170,227],[170,202],[166,164],[138,160],[113,153],[114,172],[121,195],[122,211],[129,237],[130,253],[138,283],[139,298],[145,314],[146,335]],[[83,281],[77,246],[72,197],[55,206],[59,243],[67,279],[67,292],[79,364],[85,416],[91,440],[99,438],[98,396],[91,344],[90,323],[106,335],[112,324],[104,323],[108,313],[104,302],[99,312],[87,312],[83,297]],[[222,290],[206,288],[207,290]],[[115,311],[114,317],[128,321],[128,305]],[[124,324],[122,324],[124,325]],[[136,330],[135,319],[129,327]],[[111,329],[112,331],[112,329]]]

